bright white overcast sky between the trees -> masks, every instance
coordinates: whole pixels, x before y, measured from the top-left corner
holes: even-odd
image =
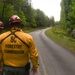
[[[48,17],[54,16],[55,21],[60,20],[61,0],[32,0],[34,9],[42,10]]]

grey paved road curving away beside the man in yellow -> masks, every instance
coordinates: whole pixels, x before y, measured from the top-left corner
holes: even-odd
[[[75,54],[49,39],[45,30],[30,33],[39,52],[38,75],[75,75]]]

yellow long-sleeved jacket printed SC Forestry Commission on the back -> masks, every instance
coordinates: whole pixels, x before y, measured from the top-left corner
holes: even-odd
[[[12,34],[11,34],[12,32]],[[20,38],[17,38],[13,32]],[[26,44],[24,44],[24,43]],[[24,67],[31,59],[34,68],[38,68],[38,52],[31,35],[24,33],[20,28],[0,35],[0,60],[3,64]]]

